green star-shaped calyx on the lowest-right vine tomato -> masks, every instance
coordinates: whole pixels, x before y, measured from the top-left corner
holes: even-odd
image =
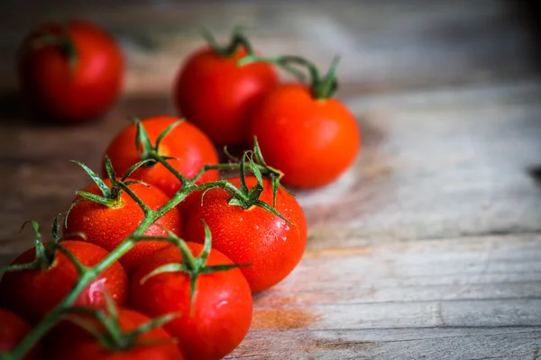
[[[170,239],[173,240],[173,242],[175,242],[177,247],[179,248],[180,256],[182,257],[182,263],[171,263],[160,266],[151,271],[151,273],[143,276],[141,279],[141,284],[144,284],[151,277],[162,273],[181,272],[188,275],[190,282],[190,309],[193,309],[193,303],[195,301],[197,292],[197,279],[200,275],[212,274],[218,271],[227,271],[237,268],[239,266],[244,266],[239,264],[223,264],[215,266],[206,265],[206,260],[210,255],[210,250],[212,247],[212,236],[210,233],[210,229],[208,229],[208,225],[206,225],[206,222],[204,220],[202,221],[203,226],[205,227],[205,243],[203,245],[203,250],[201,251],[201,254],[199,254],[197,257],[194,257],[188,246],[186,245],[186,242],[184,242],[184,240],[177,237],[174,233],[168,230]]]

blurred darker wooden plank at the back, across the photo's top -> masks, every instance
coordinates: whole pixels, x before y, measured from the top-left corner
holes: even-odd
[[[321,67],[340,55],[344,90],[355,86],[363,94],[529,78],[536,66],[530,56],[535,40],[508,0],[16,3],[0,4],[6,89],[15,87],[14,50],[24,33],[44,19],[69,16],[87,17],[115,34],[130,68],[126,90],[137,94],[169,93],[182,59],[202,45],[202,26],[226,40],[241,24],[265,53],[302,54]],[[34,10],[22,16],[22,4]]]

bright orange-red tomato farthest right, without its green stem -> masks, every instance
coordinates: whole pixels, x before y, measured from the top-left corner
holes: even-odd
[[[253,112],[257,136],[283,184],[314,188],[333,182],[353,164],[361,144],[355,117],[334,98],[315,100],[305,85],[281,85]]]

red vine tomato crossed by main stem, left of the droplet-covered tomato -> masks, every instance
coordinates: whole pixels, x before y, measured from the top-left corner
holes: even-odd
[[[104,180],[104,182],[107,186],[111,186],[110,180]],[[170,201],[170,197],[161,192],[157,187],[147,187],[144,184],[130,184],[129,188],[152,210],[157,210],[165,202]],[[96,184],[88,186],[85,191],[101,195],[101,191]],[[82,198],[77,196],[74,202],[80,199]],[[122,204],[117,208],[108,208],[105,205],[88,200],[79,202],[69,211],[64,233],[82,232],[86,235],[88,242],[112,251],[133,233],[144,218],[141,207],[137,202],[133,201],[130,195],[123,192],[121,199]],[[168,236],[167,231],[163,228],[170,229],[180,236],[182,220],[179,210],[173,208],[171,211],[168,211],[145,231],[145,235]],[[163,241],[142,241],[124,254],[119,261],[124,266],[128,275],[130,275],[133,267],[142,258],[165,246],[167,246],[167,243]]]

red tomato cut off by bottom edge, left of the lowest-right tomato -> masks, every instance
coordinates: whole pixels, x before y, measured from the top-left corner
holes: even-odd
[[[85,319],[86,320],[86,319]],[[137,311],[119,309],[120,329],[128,332],[151,319]],[[69,331],[67,330],[69,329]],[[135,339],[133,347],[106,349],[87,331],[65,327],[48,344],[50,360],[183,360],[179,347],[162,328],[147,330]]]

